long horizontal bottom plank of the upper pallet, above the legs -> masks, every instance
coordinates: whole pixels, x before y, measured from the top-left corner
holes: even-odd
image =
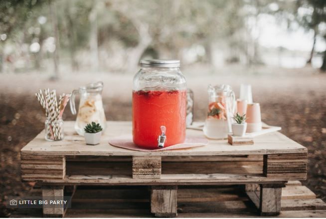
[[[33,179],[48,185],[243,185],[285,182],[262,174],[162,174],[160,179],[133,179],[129,175],[70,175],[63,180]]]

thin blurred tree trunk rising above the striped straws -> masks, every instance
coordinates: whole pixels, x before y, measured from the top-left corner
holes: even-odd
[[[52,28],[55,38],[55,50],[53,53],[53,64],[54,64],[54,79],[59,78],[59,32],[55,0],[49,0],[50,16],[52,21]]]

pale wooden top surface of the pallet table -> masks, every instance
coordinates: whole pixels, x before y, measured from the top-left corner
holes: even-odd
[[[62,141],[48,142],[41,132],[29,142],[22,154],[29,155],[96,155],[96,156],[214,156],[214,155],[263,155],[282,153],[307,153],[307,149],[292,141],[279,132],[268,133],[255,137],[255,145],[230,147],[225,140],[209,140],[204,147],[191,150],[169,150],[161,152],[141,152],[117,148],[108,144],[109,139],[126,133],[132,133],[131,122],[108,122],[107,129],[102,135],[101,143],[96,146],[87,146],[83,136],[75,134],[74,122],[65,121],[65,138]],[[203,136],[201,131],[187,129],[187,135]]]

